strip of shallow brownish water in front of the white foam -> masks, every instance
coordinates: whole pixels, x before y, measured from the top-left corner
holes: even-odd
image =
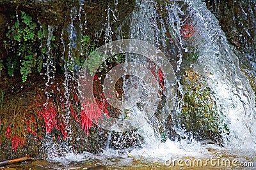
[[[207,159],[202,159],[203,164],[193,163],[195,159],[184,158],[184,160],[191,160],[191,162],[176,162],[176,164],[170,165],[169,162],[147,162],[147,160],[141,160],[141,162],[136,162],[132,159],[113,159],[109,160],[110,165],[104,165],[100,162],[94,161],[81,161],[81,162],[69,162],[69,164],[62,164],[61,162],[48,162],[46,160],[36,160],[31,162],[24,162],[22,164],[13,164],[6,167],[1,167],[0,169],[93,169],[93,170],[104,170],[105,169],[145,169],[145,170],[160,170],[160,169],[255,169],[255,164],[253,165],[250,160],[243,162],[243,165],[232,165],[232,159],[235,158],[223,158],[222,163],[218,165],[218,161],[208,162]],[[236,158],[243,159],[244,158]],[[218,160],[218,159],[217,159]],[[230,160],[230,166],[228,162],[224,160]],[[121,163],[122,162],[122,163]],[[126,164],[124,164],[126,162]],[[124,165],[122,165],[124,164]],[[254,168],[253,168],[254,166]]]

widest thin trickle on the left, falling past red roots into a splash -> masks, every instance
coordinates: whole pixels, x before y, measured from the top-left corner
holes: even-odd
[[[62,157],[63,155],[74,152],[73,148],[70,146],[70,141],[74,140],[75,138],[72,130],[72,125],[70,123],[70,115],[72,114],[70,107],[72,106],[71,101],[74,101],[74,99],[70,97],[70,94],[73,94],[75,96],[77,95],[77,91],[72,87],[74,87],[74,84],[77,83],[77,74],[79,71],[79,56],[83,55],[83,49],[81,46],[81,36],[83,31],[83,23],[81,20],[81,13],[83,12],[81,6],[83,6],[83,3],[83,1],[79,1],[79,10],[77,10],[77,6],[73,6],[71,8],[70,23],[61,31],[60,40],[61,44],[63,45],[61,60],[63,60],[64,73],[64,80],[62,85],[64,92],[58,100],[61,101],[61,107],[63,108],[63,115],[61,115],[61,119],[63,120],[63,127],[61,128],[63,128],[63,131],[65,131],[65,134],[67,136],[64,137],[66,141],[59,144],[54,143],[54,139],[52,139],[52,136],[45,139],[44,150],[47,153],[48,160],[56,161],[56,158],[61,159],[60,157]],[[51,48],[51,37],[48,42]],[[61,89],[58,90],[61,91]]]

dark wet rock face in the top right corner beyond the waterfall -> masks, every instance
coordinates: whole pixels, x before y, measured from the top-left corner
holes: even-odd
[[[237,50],[255,56],[255,1],[205,0],[205,3],[218,18],[229,43],[236,46]],[[255,57],[252,60],[255,61]]]

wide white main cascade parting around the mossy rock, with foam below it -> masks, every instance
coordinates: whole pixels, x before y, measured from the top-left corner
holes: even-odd
[[[161,16],[163,13],[157,13],[156,8],[160,8],[163,13],[166,12],[165,15],[167,16],[164,16],[165,18]],[[225,146],[227,150],[237,150],[238,152],[247,152],[247,154],[250,152],[249,155],[253,155],[256,146],[255,96],[246,76],[240,71],[238,59],[230,49],[225,34],[221,31],[216,18],[205,8],[204,4],[200,1],[179,1],[166,4],[154,1],[137,2],[135,10],[128,20],[130,24],[128,37],[147,41],[158,48],[163,48],[166,55],[170,55],[170,62],[172,62],[177,74],[180,73],[180,67],[187,67],[204,77],[205,85],[214,92],[214,99],[216,100],[214,103],[218,107],[216,114],[219,119],[223,120],[219,125],[219,128],[222,129],[221,145]],[[189,63],[183,59],[185,64],[182,65],[182,58],[184,55],[187,57],[189,53],[196,54],[196,62]],[[177,57],[174,58],[172,55]],[[127,60],[142,63],[141,60],[143,59],[138,55],[128,55],[125,62]],[[131,79],[126,83],[124,81],[124,90],[127,92],[129,92],[129,88],[132,88],[131,84],[135,84],[131,81]],[[143,85],[141,80],[133,81],[136,81],[138,85]],[[179,93],[183,98],[184,89],[179,78],[177,83]],[[182,128],[182,125],[179,124],[179,113],[182,111],[183,104],[180,102],[176,108],[177,113],[173,112],[172,117],[175,121],[173,122],[175,124],[173,129],[181,138],[185,138],[184,140],[161,143],[159,126],[163,125],[164,122],[159,122],[157,119],[151,120],[152,122],[148,120],[139,128],[139,134],[145,139],[143,148],[134,149],[131,153],[140,156],[143,151],[151,150],[145,155],[151,158],[162,157],[162,159],[172,153],[195,157],[196,152],[204,150],[208,154],[205,145],[200,145],[196,141],[192,142],[195,148],[189,144],[184,145],[184,143],[188,143],[191,136],[188,136],[188,129]],[[140,113],[138,114],[140,115]],[[154,121],[156,121],[155,124]],[[202,131],[207,131],[207,129],[202,129]],[[207,140],[205,142],[207,143]],[[202,141],[202,143],[205,142]],[[152,146],[156,150],[152,151]],[[169,153],[166,153],[166,150],[164,154],[161,151],[158,152],[159,148],[167,149]],[[190,152],[191,149],[195,153]],[[198,157],[200,156],[202,155],[198,153]]]

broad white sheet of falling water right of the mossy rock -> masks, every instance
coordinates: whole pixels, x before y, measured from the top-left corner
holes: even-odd
[[[199,73],[206,73],[207,83],[216,92],[216,102],[230,124],[227,145],[241,149],[251,146],[255,150],[255,96],[252,87],[241,73],[237,56],[230,49],[216,18],[203,4],[196,1],[188,4],[198,30],[196,41],[191,43],[200,49],[194,67]]]

